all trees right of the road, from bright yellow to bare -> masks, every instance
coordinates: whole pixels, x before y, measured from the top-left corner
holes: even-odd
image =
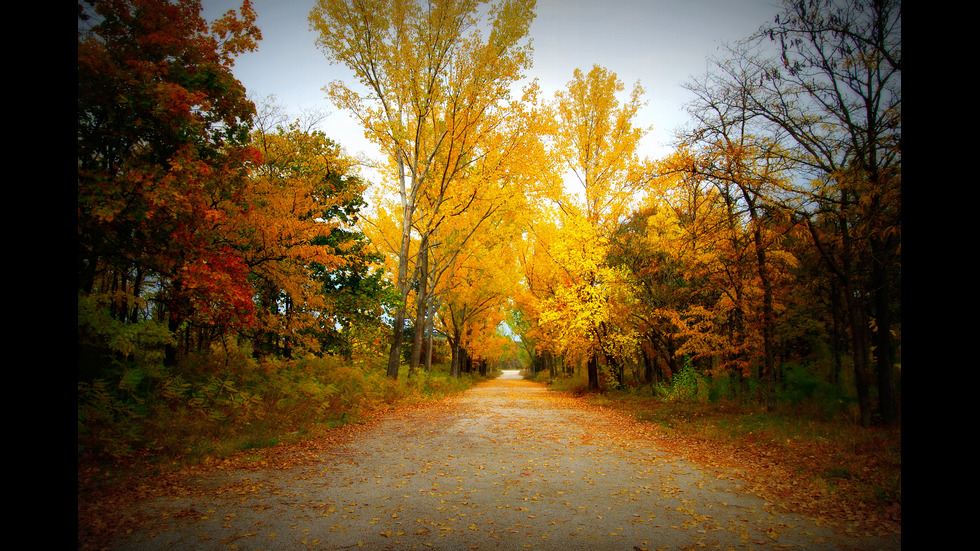
[[[893,420],[900,27],[897,2],[786,3],[686,85],[691,124],[656,162],[633,155],[642,89],[576,71],[526,188],[532,356],[587,361],[593,388],[599,372],[622,384],[624,365],[648,382],[690,366],[772,400],[787,366],[840,384],[849,354],[861,422],[875,377]]]

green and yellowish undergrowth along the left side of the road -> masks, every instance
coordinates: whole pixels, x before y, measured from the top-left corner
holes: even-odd
[[[151,367],[147,367],[151,366]],[[117,362],[78,383],[79,462],[186,463],[310,438],[462,392],[446,366],[385,375],[380,357],[257,360],[230,343],[169,368]]]

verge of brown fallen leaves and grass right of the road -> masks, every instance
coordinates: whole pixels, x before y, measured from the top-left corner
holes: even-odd
[[[901,533],[900,425],[861,428],[734,404],[590,401],[641,421],[630,426],[699,465],[732,472],[786,510],[850,533]]]

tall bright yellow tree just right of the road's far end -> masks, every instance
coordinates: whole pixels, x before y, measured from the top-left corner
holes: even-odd
[[[615,73],[593,66],[575,70],[555,94],[546,134],[552,162],[542,176],[551,208],[530,222],[534,254],[525,255],[533,263],[524,268],[528,287],[537,291],[533,337],[542,350],[587,362],[591,388],[599,385],[600,356],[621,382],[622,362],[636,347],[635,333],[617,319],[625,312],[618,305],[632,300],[630,283],[606,262],[609,233],[647,180],[638,155],[645,130],[634,125],[643,89],[637,84],[620,103],[623,89]]]

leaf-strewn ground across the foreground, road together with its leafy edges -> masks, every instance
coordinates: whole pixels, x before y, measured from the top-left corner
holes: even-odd
[[[801,461],[505,377],[302,444],[80,470],[79,548],[901,548],[899,507]]]

